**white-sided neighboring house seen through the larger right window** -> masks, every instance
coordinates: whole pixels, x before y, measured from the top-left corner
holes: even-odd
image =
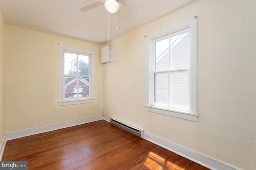
[[[169,40],[167,40],[166,43],[169,43]],[[155,70],[161,71],[161,73],[155,74],[155,102],[174,105],[178,107],[187,107],[187,68],[189,65],[188,32],[180,34],[178,36],[171,37],[170,43],[170,50],[168,47],[159,56],[156,56],[155,59]],[[161,44],[159,44],[159,46],[161,46]],[[169,87],[167,82],[168,71]]]

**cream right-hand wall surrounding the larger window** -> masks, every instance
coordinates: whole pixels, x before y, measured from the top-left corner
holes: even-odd
[[[110,42],[105,114],[241,169],[256,169],[256,1],[195,1]],[[145,111],[145,37],[198,16],[198,122]]]

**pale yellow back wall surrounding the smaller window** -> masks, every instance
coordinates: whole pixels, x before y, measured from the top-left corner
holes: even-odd
[[[58,43],[95,50],[95,103],[58,106]],[[6,24],[6,132],[102,115],[101,47]]]

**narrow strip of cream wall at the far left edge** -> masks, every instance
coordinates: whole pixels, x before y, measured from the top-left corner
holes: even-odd
[[[5,134],[5,101],[4,101],[4,85],[5,85],[5,23],[0,11],[0,143]]]

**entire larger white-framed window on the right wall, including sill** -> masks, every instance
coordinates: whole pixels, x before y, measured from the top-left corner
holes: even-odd
[[[197,121],[196,18],[147,36],[146,111]]]

